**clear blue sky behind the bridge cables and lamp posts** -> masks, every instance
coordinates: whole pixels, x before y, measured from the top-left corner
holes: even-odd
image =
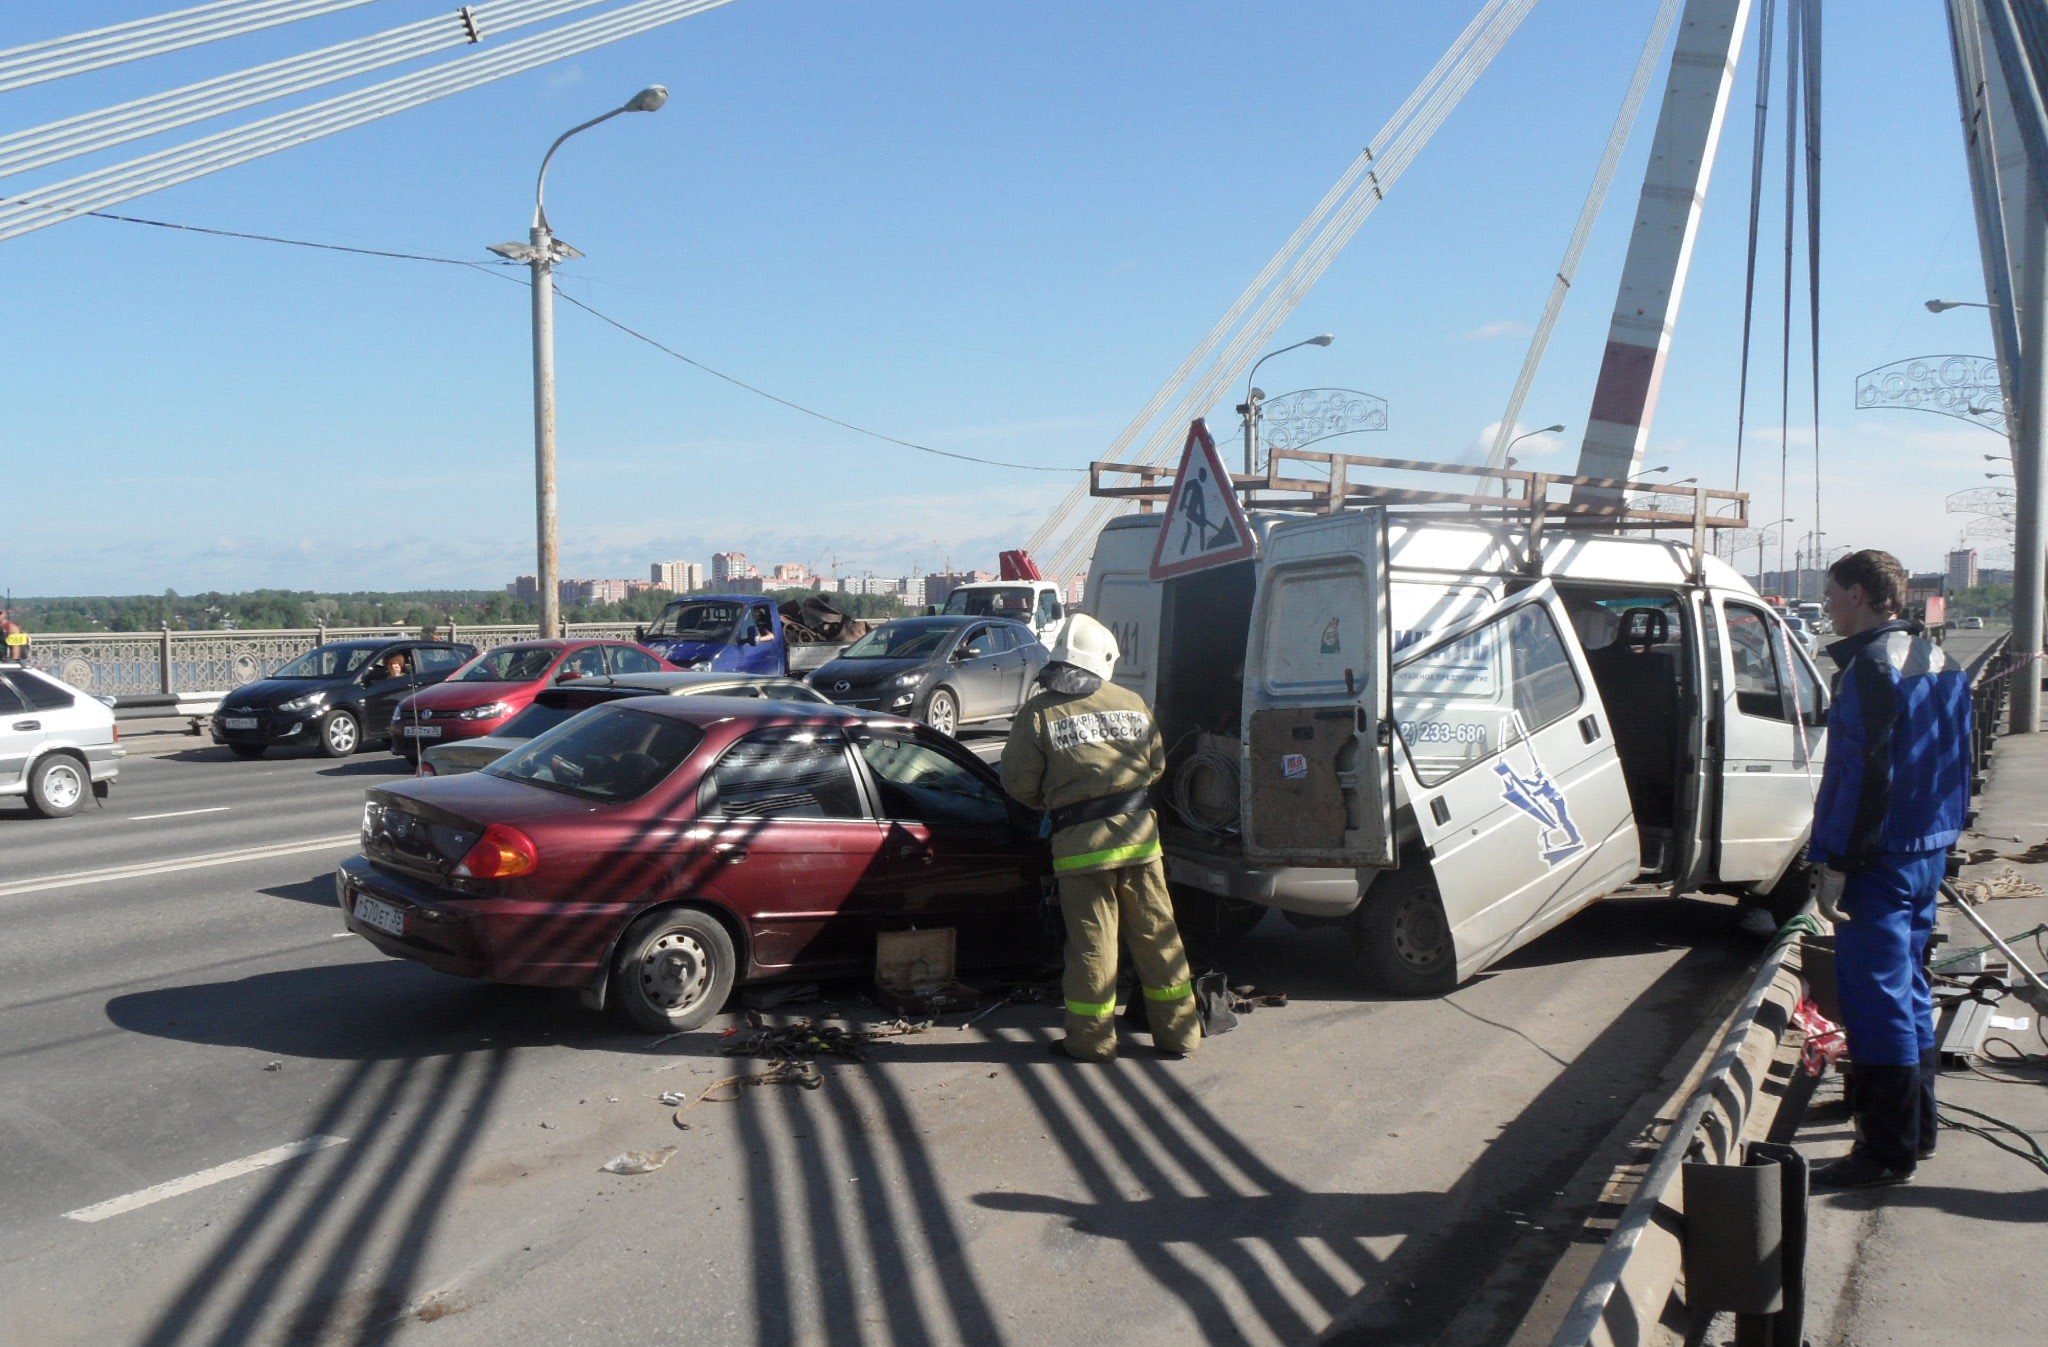
[[[8,6],[0,45],[174,8]],[[381,0],[14,94],[0,133],[440,14]],[[737,0],[117,211],[492,262],[569,125],[561,289],[737,379],[954,452],[1079,469],[1124,428],[1407,96],[1479,0]],[[1933,567],[1987,485],[1980,428],[1853,409],[1860,371],[1989,352],[1942,6],[1829,6],[1823,405],[1829,542]],[[1260,383],[1389,401],[1360,452],[1470,459],[1620,104],[1653,0],[1538,4],[1282,328],[1327,350]],[[1753,49],[1708,197],[1651,465],[1733,479]],[[1659,74],[1661,80],[1661,74]],[[1655,98],[1655,92],[1653,92]],[[266,108],[272,111],[272,108]],[[1782,90],[1774,92],[1774,117]],[[248,115],[244,115],[248,117]],[[1524,422],[1585,426],[1655,102]],[[1778,123],[1782,125],[1782,123]],[[166,137],[184,139],[213,125]],[[1776,149],[1765,180],[1782,166]],[[27,190],[106,160],[25,174]],[[1810,434],[1778,510],[1778,225],[1765,201],[1745,487],[1810,522]],[[0,244],[0,588],[408,590],[532,571],[526,291],[504,276],[78,219]],[[1804,379],[1804,278],[1794,381]],[[741,549],[842,573],[991,567],[1067,475],[786,411],[563,305],[565,575]],[[1796,426],[1806,422],[1794,383]],[[1235,401],[1235,397],[1231,399]],[[1229,407],[1210,416],[1235,434]],[[1343,444],[1343,442],[1339,442]],[[1546,448],[1524,442],[1518,454]],[[1772,551],[1772,559],[1776,551]]]

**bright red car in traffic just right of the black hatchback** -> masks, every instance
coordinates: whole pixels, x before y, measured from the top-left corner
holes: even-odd
[[[391,751],[412,759],[422,743],[477,739],[526,710],[541,688],[604,674],[666,674],[676,665],[631,641],[514,641],[483,651],[446,682],[391,708]]]

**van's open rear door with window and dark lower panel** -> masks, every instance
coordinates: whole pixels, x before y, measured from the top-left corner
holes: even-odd
[[[1249,860],[1395,866],[1389,653],[1382,510],[1266,534],[1239,764]]]

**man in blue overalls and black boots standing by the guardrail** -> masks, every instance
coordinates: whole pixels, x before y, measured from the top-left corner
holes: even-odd
[[[1827,569],[1839,671],[1815,802],[1815,897],[1835,921],[1835,976],[1855,1062],[1855,1148],[1817,1187],[1905,1183],[1933,1155],[1927,940],[1970,802],[1970,680],[1898,616],[1905,567],[1851,553]],[[2030,676],[2032,678],[2032,676]]]

